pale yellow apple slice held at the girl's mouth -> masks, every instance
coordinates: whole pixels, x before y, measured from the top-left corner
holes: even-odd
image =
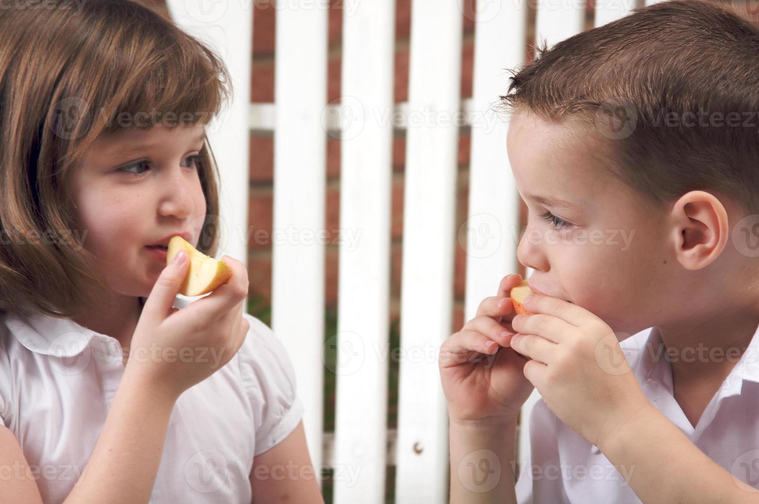
[[[222,285],[232,276],[232,270],[227,266],[227,263],[199,252],[181,236],[174,236],[168,241],[166,264],[172,262],[179,250],[187,250],[187,256],[190,258],[190,269],[179,287],[179,294],[181,295],[200,296],[206,294],[206,292],[213,291]]]

